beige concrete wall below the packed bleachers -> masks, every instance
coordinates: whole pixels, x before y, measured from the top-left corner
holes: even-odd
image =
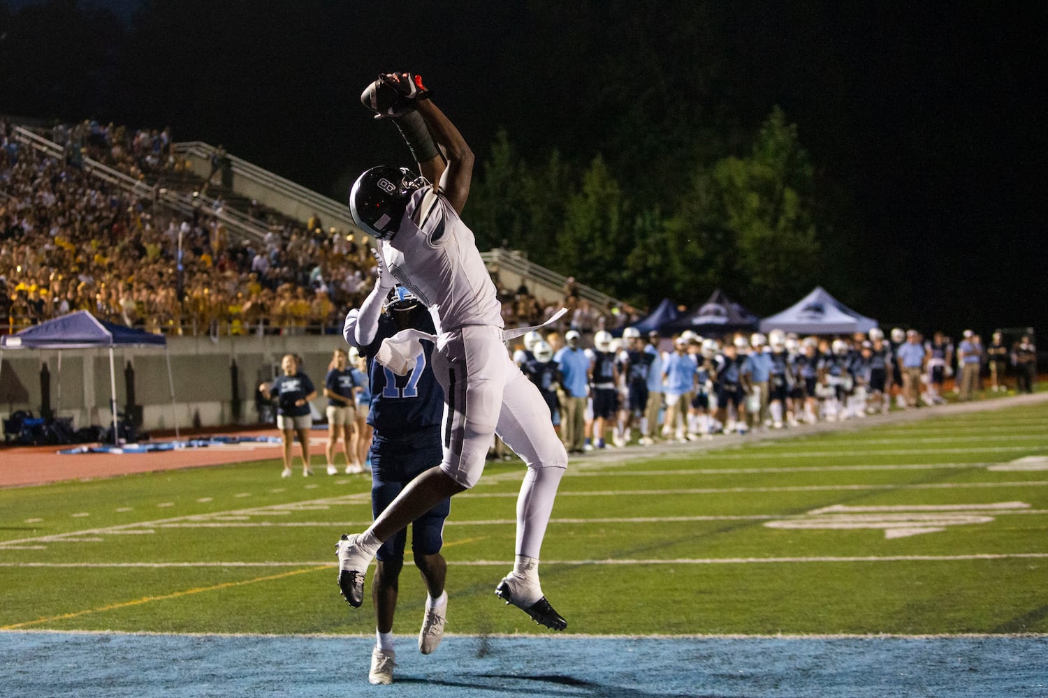
[[[256,406],[259,383],[280,373],[281,357],[297,354],[304,359],[303,370],[321,396],[313,402],[319,416],[327,404],[324,377],[337,347],[347,348],[341,335],[222,337],[217,341],[169,337],[167,357],[162,348],[117,348],[113,351],[117,410],[124,411],[127,404],[125,370],[130,366],[135,403],[141,406],[141,429],[173,430],[176,420],[179,428],[257,424],[261,421]],[[174,409],[167,358],[171,360]],[[231,370],[234,361],[236,388]],[[4,351],[0,415],[6,419],[20,409],[40,413],[41,368],[45,364],[50,374],[50,407],[58,416],[71,416],[78,429],[112,423],[108,350]]]

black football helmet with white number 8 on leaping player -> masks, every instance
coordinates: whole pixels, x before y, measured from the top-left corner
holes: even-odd
[[[372,167],[353,182],[349,211],[353,221],[376,240],[392,240],[411,195],[428,183],[407,167]]]

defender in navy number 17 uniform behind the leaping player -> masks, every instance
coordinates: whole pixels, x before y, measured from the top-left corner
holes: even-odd
[[[369,328],[368,324],[371,324]],[[361,325],[358,328],[358,325]],[[351,310],[346,317],[344,334],[348,342],[361,339],[369,342],[358,346],[367,360],[368,387],[371,407],[368,424],[371,437],[371,510],[375,517],[396,498],[405,487],[420,473],[440,463],[442,447],[440,424],[443,418],[444,396],[433,370],[434,345],[420,342],[421,352],[415,357],[415,366],[407,376],[397,376],[375,360],[383,340],[407,329],[433,333],[433,319],[425,308],[402,286],[390,291],[385,311],[373,318],[373,313]],[[422,654],[433,652],[444,632],[447,594],[444,578],[447,563],[440,555],[443,546],[444,520],[451,511],[451,499],[437,504],[412,522],[411,549],[415,566],[422,573],[429,592],[422,629],[418,635],[418,649]],[[372,598],[377,616],[377,644],[372,654],[372,683],[392,680],[393,615],[396,611],[397,580],[403,566],[407,530],[387,539],[378,548]]]

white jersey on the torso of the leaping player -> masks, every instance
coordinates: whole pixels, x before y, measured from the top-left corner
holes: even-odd
[[[502,323],[502,306],[473,231],[433,186],[415,192],[380,253],[393,276],[433,315],[437,333]]]

